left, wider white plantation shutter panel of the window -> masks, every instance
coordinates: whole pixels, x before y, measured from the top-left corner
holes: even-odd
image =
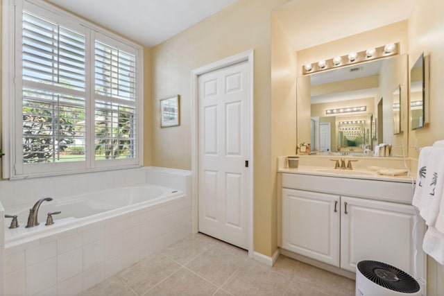
[[[85,33],[22,16],[23,164],[84,162]]]

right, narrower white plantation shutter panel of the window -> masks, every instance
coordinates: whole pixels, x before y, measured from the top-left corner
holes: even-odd
[[[96,160],[137,157],[136,55],[123,44],[95,42],[95,150]]]

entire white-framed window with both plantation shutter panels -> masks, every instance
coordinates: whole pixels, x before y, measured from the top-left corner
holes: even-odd
[[[139,166],[140,46],[42,1],[15,2],[9,176]]]

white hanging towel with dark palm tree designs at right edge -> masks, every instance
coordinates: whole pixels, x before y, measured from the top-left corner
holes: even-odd
[[[418,175],[412,204],[425,223],[434,226],[444,186],[444,147],[425,147],[418,159]]]

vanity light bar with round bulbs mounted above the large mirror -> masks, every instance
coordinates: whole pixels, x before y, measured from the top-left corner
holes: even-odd
[[[384,46],[370,47],[365,51],[352,51],[348,55],[337,56],[335,58],[331,58],[330,60],[320,60],[319,62],[305,64],[304,66],[302,66],[302,74],[306,75],[319,71],[345,67],[350,64],[359,64],[361,62],[367,62],[369,60],[386,58],[390,55],[398,54],[398,49],[399,43],[388,43]]]

